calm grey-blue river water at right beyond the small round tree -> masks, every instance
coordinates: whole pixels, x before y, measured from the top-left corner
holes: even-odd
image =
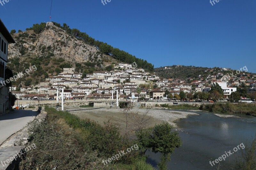
[[[177,129],[179,132],[182,146],[171,154],[171,161],[167,164],[168,169],[217,169],[219,165],[211,166],[210,160],[214,161],[230,150],[234,152],[233,149],[241,143],[251,144],[255,137],[256,117],[236,115],[236,117],[224,118],[212,113],[196,111],[194,113],[199,115],[191,115],[176,122],[178,128],[174,130]],[[228,169],[234,165],[234,155],[238,153],[239,150],[228,156],[225,161],[222,160],[220,169]],[[158,169],[160,153],[146,154],[149,155],[148,163]]]

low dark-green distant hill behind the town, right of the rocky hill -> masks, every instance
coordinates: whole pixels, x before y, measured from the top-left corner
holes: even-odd
[[[159,77],[185,79],[188,77],[198,78],[198,75],[206,75],[205,70],[209,69],[210,68],[208,67],[173,65],[155,68],[154,72],[156,72],[156,75],[158,75]],[[220,68],[216,68],[216,70],[220,70]]]

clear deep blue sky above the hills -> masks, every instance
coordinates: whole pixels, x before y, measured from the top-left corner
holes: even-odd
[[[50,5],[10,0],[0,4],[0,17],[9,30],[25,30],[47,22]],[[256,73],[255,0],[53,0],[51,16],[155,67],[246,66]]]

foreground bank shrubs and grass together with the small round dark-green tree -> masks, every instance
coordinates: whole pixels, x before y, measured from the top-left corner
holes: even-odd
[[[52,107],[46,107],[45,110],[47,111],[45,121],[35,120],[29,126],[28,145],[35,144],[36,149],[26,153],[25,159],[20,162],[21,170],[49,168],[153,170],[155,168],[146,162],[143,152],[145,149],[162,153],[159,166],[160,169],[166,169],[170,153],[181,145],[178,133],[172,133],[172,126],[167,122],[146,128],[147,134],[143,133],[146,129],[140,127],[135,133],[138,139],[129,140],[128,136],[121,136],[119,127],[110,121],[104,122],[104,126],[101,126],[97,122],[80,119],[69,112],[56,111]],[[138,116],[136,113],[132,114]],[[137,120],[144,122],[147,119],[142,116]],[[148,143],[145,144],[143,139]],[[158,146],[159,143],[164,145]],[[138,146],[138,150],[134,149],[123,154],[118,160],[113,160],[113,156],[128,151],[128,148],[135,145]],[[112,160],[108,162],[109,159]],[[106,161],[103,163],[103,160],[108,163]]]

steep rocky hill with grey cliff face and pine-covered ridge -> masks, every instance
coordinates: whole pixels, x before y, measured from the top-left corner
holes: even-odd
[[[30,75],[19,78],[15,85],[38,84],[69,67],[76,68],[83,75],[114,70],[114,65],[121,62],[136,62],[139,68],[147,71],[154,69],[154,65],[146,60],[95,40],[76,28],[69,28],[65,23],[62,26],[52,23],[34,24],[24,32],[11,30],[16,43],[9,44],[8,66],[15,75],[21,71],[24,73],[32,65],[37,68]]]

